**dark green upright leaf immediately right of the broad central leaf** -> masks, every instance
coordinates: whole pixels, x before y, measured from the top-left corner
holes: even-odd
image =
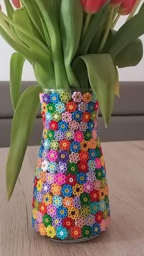
[[[87,33],[85,34],[84,39],[82,39],[78,55],[79,54],[86,54],[88,48],[90,47],[90,43],[92,43],[93,37],[98,32],[99,27],[103,29],[103,25],[107,20],[107,15],[109,12],[109,1],[103,5],[103,7],[99,10],[98,13],[93,15],[92,21],[87,29]]]

